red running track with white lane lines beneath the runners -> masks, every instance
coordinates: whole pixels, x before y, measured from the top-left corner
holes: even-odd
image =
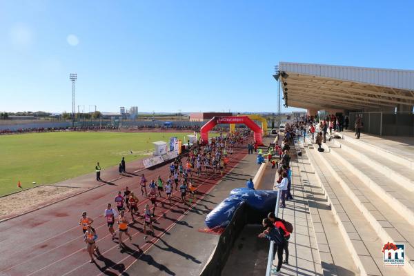
[[[245,149],[235,149],[228,164],[228,173],[246,155]],[[167,164],[156,170],[144,170],[148,180],[161,175],[166,179],[169,175]],[[113,185],[102,186],[95,190],[52,204],[9,221],[0,223],[0,275],[120,275],[139,257],[146,254],[153,243],[174,227],[177,221],[188,213],[188,205],[179,201],[179,190],[175,191],[172,204],[168,204],[165,193],[159,197],[155,209],[155,237],[148,236],[144,241],[142,219],[129,226],[132,242],[124,237],[124,249],[119,250],[118,239],[112,242],[103,217],[107,203],[114,205],[118,190],[126,186],[139,197],[140,213],[148,199],[141,196],[139,176],[125,177]],[[193,208],[205,193],[209,193],[219,182],[221,176],[213,172],[203,173],[201,177],[193,175],[197,185],[197,200]],[[187,201],[188,202],[188,201]],[[163,203],[161,206],[161,203]],[[95,264],[89,263],[86,244],[79,226],[80,214],[83,210],[88,217],[94,219],[92,226],[97,230],[99,239],[97,246],[101,257],[95,257]],[[127,213],[130,219],[130,214]],[[115,226],[114,226],[115,227]],[[124,235],[125,236],[125,235]],[[148,256],[147,256],[148,257]]]

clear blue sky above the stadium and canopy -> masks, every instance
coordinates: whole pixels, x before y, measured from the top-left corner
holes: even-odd
[[[413,13],[413,1],[2,0],[0,110],[70,111],[77,72],[86,111],[275,112],[279,61],[414,69]]]

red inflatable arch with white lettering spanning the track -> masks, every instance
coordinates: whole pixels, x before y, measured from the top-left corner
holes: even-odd
[[[255,144],[258,146],[263,145],[262,128],[257,126],[257,124],[255,124],[255,122],[247,116],[213,117],[213,119],[210,119],[210,121],[208,121],[204,126],[201,126],[201,144],[208,144],[208,132],[217,124],[245,124],[248,128],[255,132]]]

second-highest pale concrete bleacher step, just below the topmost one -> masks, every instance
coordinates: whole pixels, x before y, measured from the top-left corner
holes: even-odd
[[[365,161],[366,164],[378,172],[385,172],[395,183],[404,187],[406,190],[414,192],[414,170],[395,163],[388,159],[381,152],[367,150],[363,144],[352,143],[349,140],[335,139],[335,144],[340,145],[347,152],[351,153],[358,159]]]

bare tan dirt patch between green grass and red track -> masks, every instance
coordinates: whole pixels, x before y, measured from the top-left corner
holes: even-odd
[[[84,188],[68,188],[58,186],[39,186],[36,188],[23,190],[19,193],[0,197],[0,220],[13,215],[21,214],[58,201],[75,193],[79,193]]]

